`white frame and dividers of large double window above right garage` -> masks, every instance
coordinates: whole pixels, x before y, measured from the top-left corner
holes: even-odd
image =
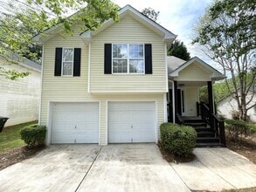
[[[128,67],[128,70],[127,72],[113,72],[113,45],[128,45],[128,56],[127,58],[114,58],[114,59],[121,59],[121,60],[127,60],[127,67]],[[143,58],[130,58],[129,57],[129,45],[143,45]],[[142,60],[143,59],[143,72],[129,72],[129,64],[130,64],[130,59],[138,59],[138,60]],[[111,67],[112,67],[112,74],[114,75],[143,75],[145,74],[145,44],[112,44],[112,51],[111,51]]]

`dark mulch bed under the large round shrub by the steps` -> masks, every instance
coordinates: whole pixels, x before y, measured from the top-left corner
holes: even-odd
[[[187,157],[180,157],[180,156],[176,156],[174,154],[170,154],[168,152],[166,152],[161,143],[158,143],[158,147],[163,155],[163,158],[168,161],[168,162],[174,162],[174,163],[178,163],[178,162],[190,162],[190,161],[194,161],[196,159],[196,155],[195,154],[190,154]]]

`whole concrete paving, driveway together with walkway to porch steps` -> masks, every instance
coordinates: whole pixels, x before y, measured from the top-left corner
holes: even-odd
[[[227,148],[168,163],[156,144],[55,145],[0,171],[0,191],[190,191],[256,186],[256,167]]]

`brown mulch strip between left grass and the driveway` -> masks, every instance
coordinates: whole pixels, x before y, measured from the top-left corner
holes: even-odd
[[[39,151],[43,150],[45,147],[17,147],[10,151],[0,153],[0,170],[6,168],[12,164],[28,159]]]

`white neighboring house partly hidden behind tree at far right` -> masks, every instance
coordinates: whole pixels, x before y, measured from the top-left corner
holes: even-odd
[[[253,97],[253,99],[252,99]],[[246,102],[248,102],[249,99],[252,99],[250,104],[248,104],[247,107],[253,106],[251,109],[247,111],[247,115],[249,116],[249,119],[253,122],[256,122],[256,86],[251,86],[250,90],[248,92],[248,95],[246,97]],[[232,119],[232,113],[236,113],[239,111],[238,103],[236,99],[232,97],[232,95],[227,96],[225,99],[221,99],[218,102],[218,114],[223,115],[225,118]]]

